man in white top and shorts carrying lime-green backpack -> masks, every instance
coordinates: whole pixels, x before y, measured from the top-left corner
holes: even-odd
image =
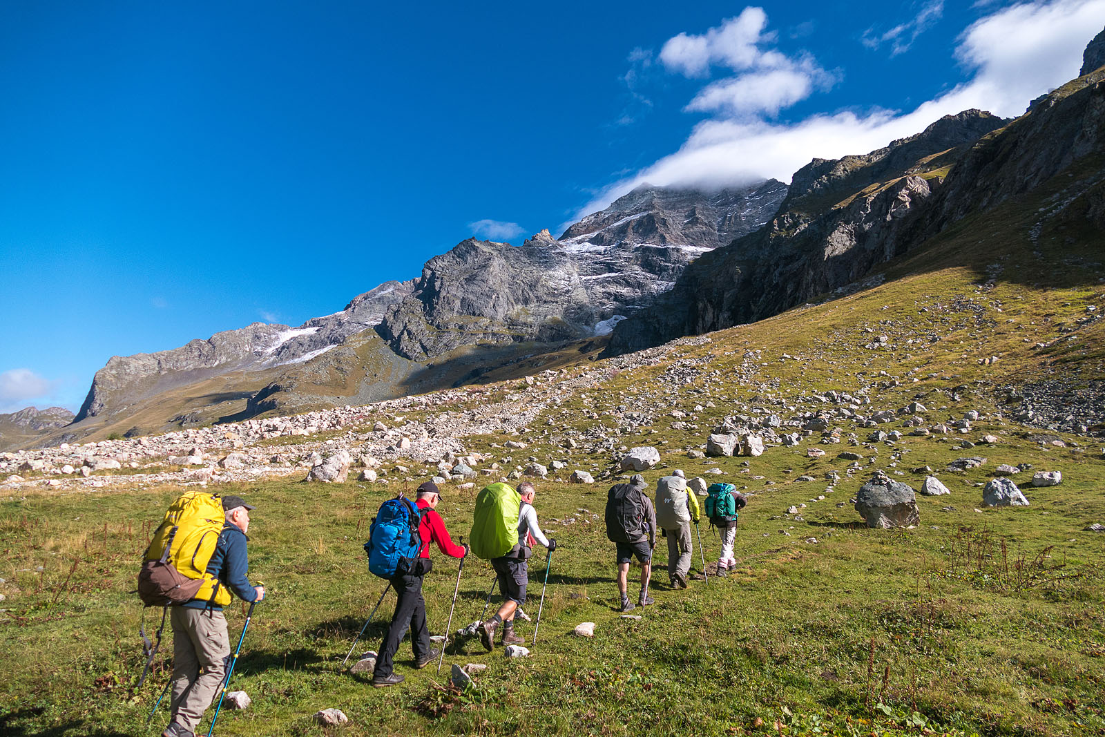
[[[556,539],[546,538],[537,524],[534,497],[537,487],[524,481],[515,491],[506,484],[492,484],[476,496],[472,520],[472,546],[477,557],[491,561],[503,596],[503,606],[480,624],[480,641],[488,651],[495,647],[495,631],[502,627],[502,645],[525,644],[525,638],[514,633],[514,614],[526,602],[529,581],[529,557],[533,546],[540,543],[549,556],[556,550]],[[546,569],[547,573],[547,569]],[[538,619],[539,623],[539,619]]]

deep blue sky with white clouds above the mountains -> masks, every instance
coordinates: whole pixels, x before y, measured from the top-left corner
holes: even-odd
[[[1105,27],[1105,0],[383,4],[0,4],[0,412],[643,181],[1017,115]]]

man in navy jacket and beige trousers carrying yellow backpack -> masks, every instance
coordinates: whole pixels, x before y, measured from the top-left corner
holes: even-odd
[[[248,578],[245,533],[254,508],[240,496],[185,494],[146,550],[138,593],[148,606],[168,606],[172,623],[172,720],[161,737],[194,737],[225,685],[230,636],[222,608],[231,593],[252,603],[265,598],[264,587]]]

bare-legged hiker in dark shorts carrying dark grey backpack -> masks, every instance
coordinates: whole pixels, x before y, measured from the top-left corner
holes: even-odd
[[[649,483],[641,474],[630,477],[628,484],[614,484],[607,494],[607,538],[618,546],[618,593],[621,611],[635,604],[629,600],[629,567],[635,557],[641,564],[641,594],[638,604],[654,603],[649,596],[652,575],[652,550],[656,547],[656,512],[644,489]]]

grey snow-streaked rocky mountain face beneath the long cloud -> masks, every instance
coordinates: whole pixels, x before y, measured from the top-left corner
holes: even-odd
[[[691,261],[760,227],[786,196],[770,180],[722,192],[641,187],[554,239],[470,239],[431,259],[377,331],[409,359],[462,346],[556,343],[612,329]]]

